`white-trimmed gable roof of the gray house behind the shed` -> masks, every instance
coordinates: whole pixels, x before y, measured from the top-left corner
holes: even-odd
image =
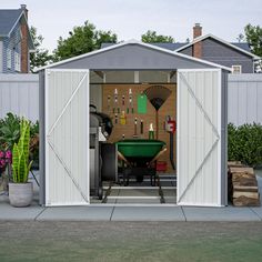
[[[260,57],[253,54],[252,52],[250,52],[250,50],[248,51],[248,48],[246,48],[246,44],[248,44],[248,43],[230,43],[230,42],[226,42],[225,40],[223,40],[223,39],[221,39],[221,38],[218,38],[218,37],[213,36],[213,34],[211,34],[211,33],[205,34],[205,36],[198,37],[198,38],[195,38],[192,42],[187,43],[185,46],[178,48],[175,51],[179,52],[179,51],[181,51],[181,50],[183,50],[183,49],[185,49],[185,48],[189,48],[189,47],[191,47],[192,44],[194,44],[194,43],[196,43],[196,42],[200,42],[200,41],[203,41],[204,39],[208,39],[208,38],[212,38],[212,39],[214,39],[214,40],[216,40],[216,41],[219,41],[219,42],[221,42],[221,43],[223,43],[223,44],[225,44],[225,46],[228,46],[228,47],[230,47],[230,48],[232,48],[232,49],[234,49],[234,50],[238,50],[238,51],[240,51],[240,52],[243,52],[243,53],[245,53],[245,54],[248,54],[248,56],[250,56],[250,57],[252,57],[252,58],[254,58],[254,59],[260,59]]]

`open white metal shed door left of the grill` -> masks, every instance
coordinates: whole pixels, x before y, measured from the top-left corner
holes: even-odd
[[[46,70],[46,205],[89,203],[89,71]]]

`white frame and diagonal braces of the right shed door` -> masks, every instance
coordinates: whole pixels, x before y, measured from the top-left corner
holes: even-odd
[[[180,161],[181,161],[181,155],[180,155],[180,152],[181,152],[181,149],[180,149],[180,139],[181,139],[181,128],[180,128],[180,123],[184,120],[180,119],[180,111],[182,110],[182,107],[183,104],[181,104],[181,101],[180,101],[180,92],[181,92],[181,84],[180,82],[181,81],[187,81],[187,79],[180,79],[180,73],[188,73],[188,72],[218,72],[218,114],[216,114],[216,118],[218,118],[218,121],[216,123],[212,123],[212,121],[210,121],[210,118],[209,118],[209,113],[205,112],[205,109],[204,107],[202,107],[201,102],[198,100],[196,95],[194,94],[193,90],[190,88],[189,83],[187,82],[185,85],[188,87],[188,90],[189,90],[189,93],[191,94],[191,98],[194,99],[195,101],[195,104],[196,107],[200,109],[200,111],[202,111],[202,113],[204,114],[204,118],[205,120],[209,122],[209,124],[212,127],[212,129],[214,130],[214,132],[216,132],[216,138],[218,138],[218,142],[216,144],[213,143],[213,147],[210,149],[209,152],[206,152],[206,158],[204,158],[202,160],[202,163],[200,164],[200,167],[195,170],[195,173],[194,175],[190,179],[189,181],[189,184],[185,187],[185,189],[181,189],[181,183],[180,183],[180,177],[183,175],[183,173],[181,173],[181,170],[180,170]],[[177,199],[177,204],[178,205],[202,205],[202,206],[222,206],[222,198],[221,198],[221,185],[222,185],[222,173],[221,173],[221,124],[222,124],[222,119],[221,119],[221,112],[222,112],[222,97],[221,97],[221,92],[222,92],[222,81],[221,81],[221,69],[178,69],[178,88],[177,88],[177,122],[178,122],[178,129],[177,129],[177,172],[178,172],[178,188],[177,188],[177,195],[178,195],[178,199]],[[216,184],[218,184],[218,201],[216,203],[201,203],[201,202],[198,202],[198,200],[194,202],[194,201],[184,201],[183,200],[183,196],[185,194],[184,191],[189,190],[189,188],[192,185],[192,182],[193,180],[195,179],[195,177],[199,175],[199,170],[201,170],[202,168],[202,164],[204,164],[204,162],[206,161],[206,159],[209,158],[209,154],[212,153],[212,151],[216,148],[216,161],[218,161],[218,170],[216,170]],[[189,157],[188,157],[189,158]],[[190,164],[190,163],[188,163]],[[200,189],[200,190],[204,190],[204,189]]]

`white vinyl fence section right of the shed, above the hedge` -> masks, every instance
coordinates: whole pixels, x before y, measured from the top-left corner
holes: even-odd
[[[229,74],[228,122],[262,123],[262,73]]]

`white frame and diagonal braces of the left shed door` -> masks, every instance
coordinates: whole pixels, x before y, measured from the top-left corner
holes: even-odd
[[[67,101],[67,103],[64,104],[62,111],[60,112],[59,117],[56,119],[54,123],[52,124],[52,127],[50,127],[49,123],[49,104],[48,104],[48,100],[49,100],[49,74],[50,72],[83,72],[84,77],[80,80],[80,82],[78,83],[78,87],[75,88],[75,90],[72,92],[71,97],[69,98],[69,100]],[[67,169],[66,165],[63,165],[63,160],[61,161],[61,164],[63,165],[68,177],[70,178],[71,182],[74,184],[74,187],[77,188],[77,190],[79,191],[79,193],[82,196],[82,201],[80,202],[72,202],[72,203],[67,203],[67,202],[59,202],[59,203],[50,203],[49,198],[50,198],[50,190],[49,190],[49,180],[50,180],[50,173],[49,173],[49,150],[50,150],[50,143],[49,143],[49,134],[50,134],[50,128],[51,131],[54,129],[56,124],[59,122],[59,119],[62,117],[62,114],[66,112],[67,107],[72,102],[73,97],[78,93],[78,91],[81,89],[82,83],[84,82],[84,80],[87,79],[87,97],[85,97],[85,101],[87,104],[89,104],[89,88],[90,88],[90,70],[89,69],[46,69],[46,75],[44,75],[44,82],[46,82],[46,88],[44,88],[44,159],[46,159],[46,168],[44,168],[44,172],[46,172],[46,205],[48,206],[56,206],[56,205],[89,205],[90,204],[90,183],[89,183],[89,178],[90,178],[90,163],[89,163],[89,117],[87,117],[87,170],[84,170],[83,172],[85,172],[87,175],[87,188],[88,188],[88,192],[82,192],[81,191],[81,185],[79,185],[78,181],[74,180],[73,175],[70,174],[70,170]],[[83,87],[82,87],[83,88]],[[89,107],[87,107],[87,115],[89,115]],[[59,157],[58,157],[59,158]]]

